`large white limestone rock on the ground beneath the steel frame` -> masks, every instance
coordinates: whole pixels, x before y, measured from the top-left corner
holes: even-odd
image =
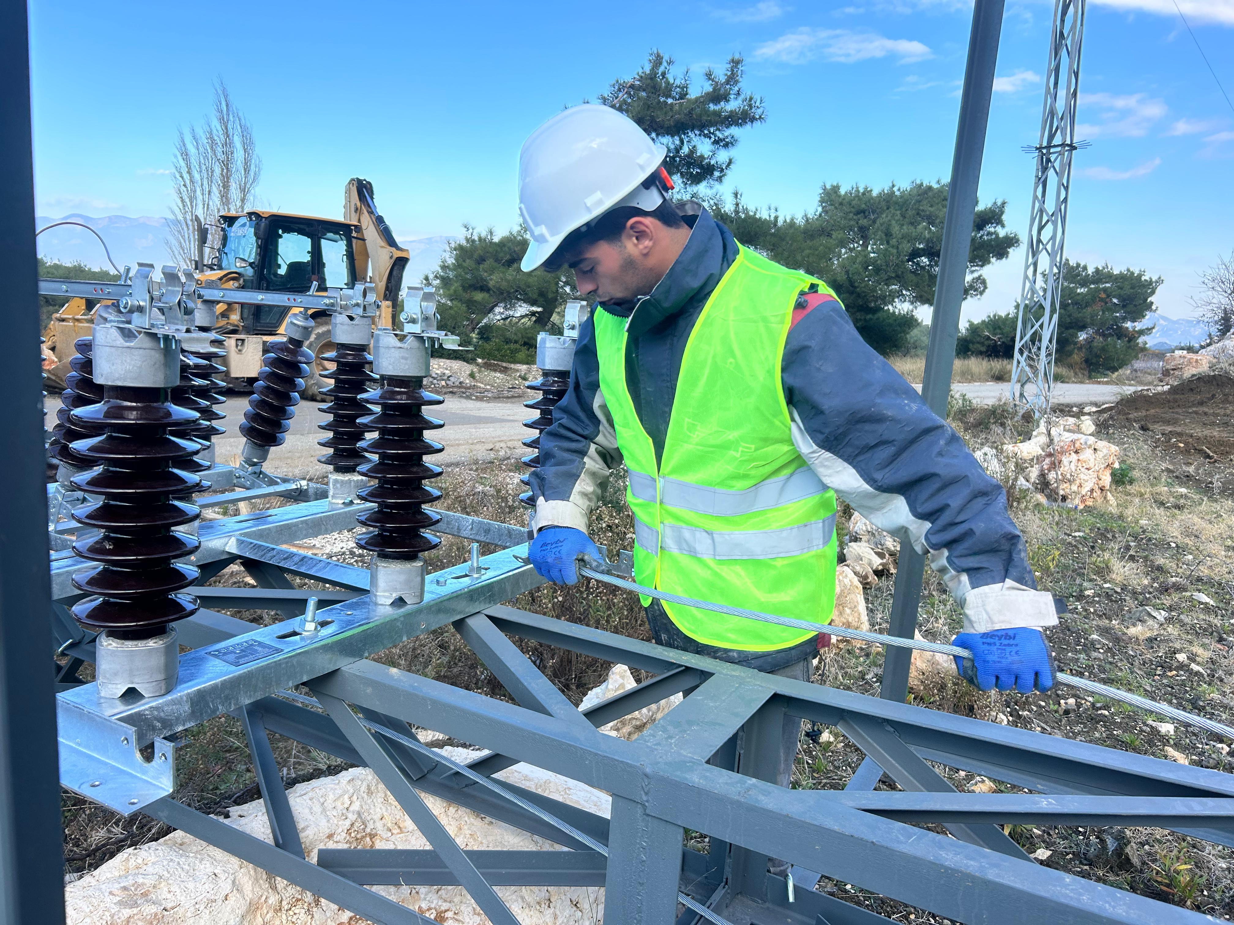
[[[445,750],[452,757],[479,752]],[[527,765],[496,775],[520,787],[608,815],[603,793]],[[308,860],[323,847],[426,849],[428,842],[368,768],[299,784],[288,792]],[[559,846],[424,794],[464,849],[558,850]],[[231,810],[228,825],[269,841],[260,800]],[[489,920],[462,887],[373,887],[442,925]],[[515,916],[531,925],[594,925],[597,887],[497,887]],[[69,925],[358,925],[364,921],[185,832],[128,849],[64,889]]]

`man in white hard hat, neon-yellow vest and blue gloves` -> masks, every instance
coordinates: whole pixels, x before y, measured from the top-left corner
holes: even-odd
[[[835,294],[674,204],[665,149],[607,106],[523,144],[526,271],[574,271],[597,302],[540,435],[531,562],[574,585],[589,517],[624,464],[638,583],[824,624],[835,498],[927,555],[964,610],[971,683],[1048,689],[1038,591],[1002,486],[861,340]],[[818,634],[643,598],[660,645],[800,681]],[[787,784],[800,723],[785,724]]]

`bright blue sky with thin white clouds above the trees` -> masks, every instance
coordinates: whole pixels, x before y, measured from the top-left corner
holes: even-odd
[[[1178,0],[1234,95],[1234,0]],[[204,21],[231,12],[223,25]],[[982,200],[1028,222],[1051,4],[1008,0]],[[945,178],[970,2],[255,2],[33,0],[39,215],[167,215],[178,126],[222,78],[251,120],[263,205],[333,216],[374,183],[404,237],[516,222],[523,138],[660,48],[695,73],[747,58],[768,121],[747,130],[726,190],[797,212],[823,183]],[[1067,253],[1165,276],[1191,313],[1196,273],[1234,248],[1234,111],[1174,0],[1090,0]],[[118,257],[118,255],[117,255]],[[122,259],[122,258],[121,258]],[[1009,308],[1023,248],[965,317]]]

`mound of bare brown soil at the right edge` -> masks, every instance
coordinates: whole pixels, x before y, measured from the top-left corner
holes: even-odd
[[[1165,391],[1138,392],[1111,414],[1150,433],[1171,453],[1234,458],[1234,376],[1193,376]]]

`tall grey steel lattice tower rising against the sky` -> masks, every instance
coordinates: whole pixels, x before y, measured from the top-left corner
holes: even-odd
[[[1022,408],[1030,408],[1038,418],[1049,411],[1054,390],[1054,344],[1062,289],[1071,154],[1085,147],[1075,139],[1085,2],[1055,0],[1041,134],[1035,146],[1025,148],[1037,155],[1037,171],[1016,326],[1011,400]]]

